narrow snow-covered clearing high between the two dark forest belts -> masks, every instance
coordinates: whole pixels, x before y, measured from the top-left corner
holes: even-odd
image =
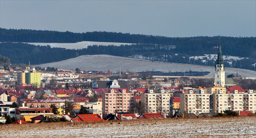
[[[76,42],[76,43],[28,42],[28,44],[40,45],[40,46],[50,45],[51,48],[59,47],[59,48],[65,48],[65,49],[84,49],[84,48],[87,48],[88,46],[92,46],[92,45],[114,45],[114,46],[132,45],[132,43],[123,43],[123,42],[92,42],[92,41],[82,41],[82,42]]]

